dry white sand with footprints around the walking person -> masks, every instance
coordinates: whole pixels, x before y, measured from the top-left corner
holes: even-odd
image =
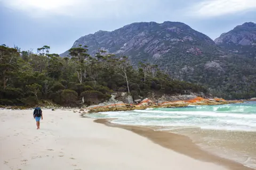
[[[226,169],[163,148],[130,131],[107,127],[71,111],[0,110],[0,169]]]

